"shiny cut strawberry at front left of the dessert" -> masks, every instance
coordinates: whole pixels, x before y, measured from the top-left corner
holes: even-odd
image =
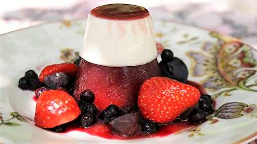
[[[64,91],[44,91],[35,107],[35,124],[53,128],[76,119],[80,115],[76,100]]]

